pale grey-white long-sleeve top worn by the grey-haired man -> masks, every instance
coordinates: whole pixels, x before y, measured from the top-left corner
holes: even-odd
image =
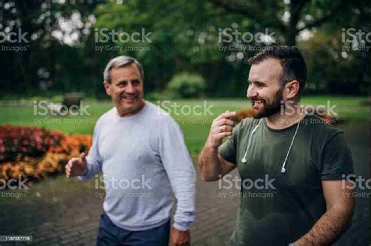
[[[106,190],[103,208],[116,226],[161,226],[170,218],[174,195],[173,227],[188,230],[196,219],[196,172],[178,124],[160,107],[146,102],[129,117],[119,117],[115,107],[103,114],[86,160],[78,178],[94,176],[97,192]]]

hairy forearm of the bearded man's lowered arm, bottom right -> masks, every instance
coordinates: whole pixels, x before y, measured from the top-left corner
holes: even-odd
[[[299,246],[329,245],[347,228],[353,214],[353,203],[329,209],[312,229],[295,243]]]

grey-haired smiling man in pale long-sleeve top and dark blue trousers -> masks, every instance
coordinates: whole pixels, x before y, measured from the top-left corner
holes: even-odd
[[[80,180],[103,172],[106,197],[97,245],[168,245],[173,192],[177,209],[172,245],[188,245],[195,215],[196,172],[174,120],[143,99],[144,72],[119,56],[104,71],[114,106],[95,125],[88,156],[66,165]]]

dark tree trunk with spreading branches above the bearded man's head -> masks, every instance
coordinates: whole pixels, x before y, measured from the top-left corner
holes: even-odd
[[[262,26],[280,32],[287,45],[295,45],[298,34],[328,23],[335,18],[344,18],[357,6],[358,1],[333,0],[284,0],[284,1],[223,1],[209,0],[227,13],[240,14],[255,20]],[[239,3],[237,7],[234,2]]]

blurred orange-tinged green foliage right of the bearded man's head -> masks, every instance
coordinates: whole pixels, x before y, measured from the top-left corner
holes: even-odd
[[[325,24],[311,39],[298,42],[306,53],[305,93],[370,94],[370,43],[359,47],[363,51],[352,49],[351,44],[342,42],[341,26]],[[358,28],[367,33],[367,27]]]

